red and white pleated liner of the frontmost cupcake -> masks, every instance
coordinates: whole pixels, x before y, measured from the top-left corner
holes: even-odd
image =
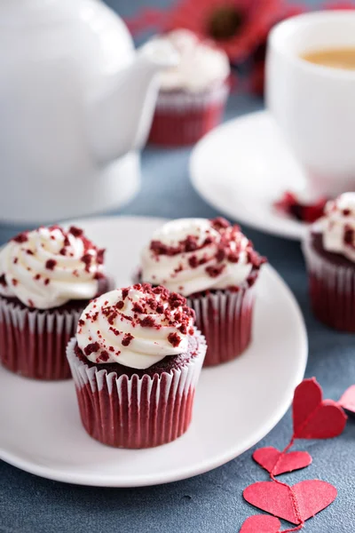
[[[89,367],[75,354],[76,340],[67,346],[80,415],[87,433],[115,448],[153,448],[185,434],[206,353],[199,332],[199,353],[179,370],[154,377],[120,376]]]

